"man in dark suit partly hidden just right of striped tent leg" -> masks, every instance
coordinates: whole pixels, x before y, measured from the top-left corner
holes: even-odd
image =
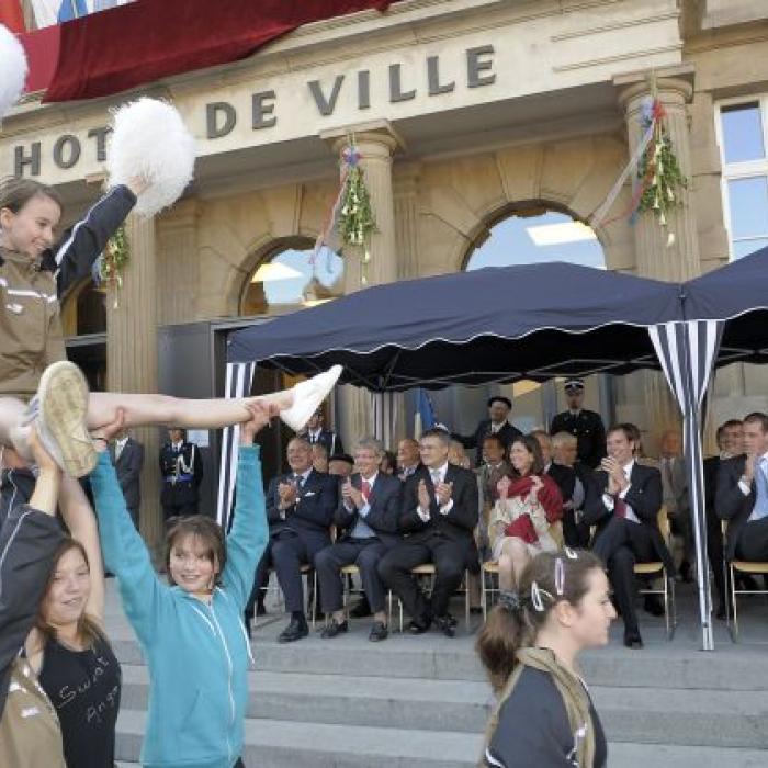
[[[707,556],[712,566],[712,577],[718,591],[718,619],[725,619],[727,612],[725,605],[729,591],[725,586],[725,554],[723,550],[723,534],[720,518],[715,511],[715,497],[718,493],[718,475],[720,467],[729,459],[739,456],[744,452],[744,425],[737,419],[730,419],[718,427],[715,434],[718,441],[716,456],[704,459],[704,498],[707,501]]]

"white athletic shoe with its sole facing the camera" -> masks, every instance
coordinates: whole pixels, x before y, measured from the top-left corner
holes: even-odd
[[[97,464],[87,415],[88,383],[80,369],[67,360],[48,365],[24,420],[34,425],[50,458],[72,477],[87,475]]]

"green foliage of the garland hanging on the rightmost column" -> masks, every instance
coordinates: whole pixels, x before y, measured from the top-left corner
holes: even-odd
[[[666,227],[669,212],[682,204],[679,188],[686,189],[688,180],[680,170],[671,139],[660,121],[656,123],[654,137],[640,160],[637,177],[643,184],[637,211],[652,211],[659,224]]]

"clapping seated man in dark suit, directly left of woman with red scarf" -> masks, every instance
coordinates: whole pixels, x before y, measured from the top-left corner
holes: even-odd
[[[379,562],[384,584],[411,615],[408,631],[414,634],[426,632],[434,621],[443,634],[453,636],[448,603],[474,551],[477,478],[470,470],[449,464],[450,444],[451,436],[442,429],[427,430],[421,437],[423,466],[403,489],[399,526],[407,537]],[[434,563],[436,569],[429,602],[410,573],[423,563]]]

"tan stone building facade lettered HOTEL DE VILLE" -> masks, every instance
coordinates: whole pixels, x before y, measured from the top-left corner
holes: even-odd
[[[116,308],[106,302],[108,385],[153,391],[158,326],[250,314],[259,264],[315,240],[348,134],[379,225],[369,281],[441,274],[464,269],[506,216],[589,223],[639,140],[652,83],[689,179],[675,242],[650,214],[596,234],[608,269],[678,281],[732,258],[721,110],[768,93],[760,0],[404,0],[120,97],[32,94],[3,122],[0,169],[56,184],[75,218],[104,178],[108,110],[145,93],[179,108],[197,139],[195,180],[172,210],[132,217],[125,286]],[[629,201],[628,185],[614,210]],[[334,290],[359,286],[350,260]],[[64,309],[72,332],[76,304]],[[742,365],[721,372],[715,416],[765,407],[764,382]],[[675,418],[656,374],[618,380],[612,397],[651,442]],[[364,407],[351,395],[346,406],[351,437]],[[157,437],[143,437],[153,455]]]

